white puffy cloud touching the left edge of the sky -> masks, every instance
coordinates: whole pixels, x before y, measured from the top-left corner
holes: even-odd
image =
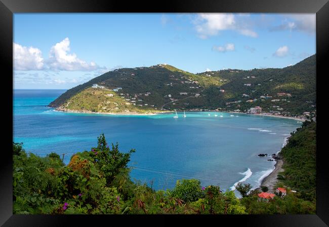
[[[17,43],[14,43],[13,48],[15,70],[44,69],[44,59],[41,50],[32,46],[21,46]]]

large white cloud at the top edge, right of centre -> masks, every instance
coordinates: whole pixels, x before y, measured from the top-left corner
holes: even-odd
[[[244,16],[238,15],[237,17]],[[245,36],[258,36],[256,32],[248,28],[247,24],[243,24],[240,20],[237,20],[237,17],[233,14],[226,13],[198,14],[193,23],[199,37],[203,39],[217,35],[219,31],[224,30],[234,30]]]

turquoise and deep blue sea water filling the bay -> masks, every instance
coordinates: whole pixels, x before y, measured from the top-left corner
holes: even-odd
[[[45,156],[97,146],[97,136],[136,149],[129,166],[134,181],[153,189],[172,189],[179,179],[196,178],[202,186],[230,189],[238,181],[258,187],[274,168],[270,157],[301,123],[296,120],[225,112],[186,112],[154,116],[119,116],[54,111],[47,105],[65,90],[15,89],[13,141],[27,152]],[[210,114],[210,116],[208,116]],[[215,117],[214,115],[218,115]],[[234,115],[231,116],[231,115]],[[223,117],[220,117],[223,116]]]

